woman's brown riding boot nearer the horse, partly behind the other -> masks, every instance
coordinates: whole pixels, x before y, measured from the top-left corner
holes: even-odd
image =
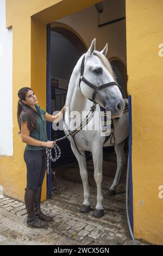
[[[35,215],[38,218],[40,218],[40,220],[42,220],[42,221],[51,222],[51,221],[53,221],[53,217],[47,216],[41,212],[41,207],[40,207],[41,191],[42,191],[42,186],[37,187],[37,191],[35,193]]]

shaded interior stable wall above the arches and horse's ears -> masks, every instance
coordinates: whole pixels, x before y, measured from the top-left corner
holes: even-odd
[[[83,38],[87,46],[96,38],[96,48],[101,51],[108,43],[108,58],[118,57],[126,63],[126,21],[122,20],[111,25],[98,27],[126,15],[125,0],[105,0],[104,11],[98,14],[95,5],[66,16],[58,22],[73,28]]]

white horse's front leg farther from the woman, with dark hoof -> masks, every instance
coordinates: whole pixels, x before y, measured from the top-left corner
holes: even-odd
[[[103,163],[103,148],[99,145],[92,150],[93,164],[94,164],[94,178],[97,185],[97,204],[96,209],[93,212],[93,216],[101,218],[104,215],[104,208],[102,205],[103,193],[102,193],[102,163]]]

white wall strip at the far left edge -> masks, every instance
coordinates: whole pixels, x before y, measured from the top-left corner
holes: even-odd
[[[0,0],[0,155],[13,155],[12,29],[5,28],[5,0]]]

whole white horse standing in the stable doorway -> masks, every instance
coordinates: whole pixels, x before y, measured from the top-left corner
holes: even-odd
[[[89,99],[93,99],[93,101],[96,101],[98,104],[96,111],[100,112],[99,106],[102,106],[106,109],[106,111],[111,111],[112,116],[114,116],[114,145],[115,153],[117,155],[117,170],[114,182],[107,193],[113,195],[115,192],[115,187],[120,181],[121,171],[125,160],[124,140],[128,137],[128,112],[123,113],[125,103],[120,89],[118,88],[118,84],[116,83],[111,65],[108,59],[105,57],[108,51],[108,45],[106,44],[104,49],[101,52],[98,52],[95,50],[95,43],[96,39],[92,41],[89,50],[82,57],[80,57],[73,69],[70,83],[68,85],[66,109],[69,108],[69,113],[78,111],[83,119],[84,117],[82,112],[89,112],[93,104]],[[89,81],[89,83],[86,83],[87,81]],[[104,86],[102,88],[98,88],[101,85]],[[116,117],[119,118],[116,119]],[[70,131],[73,130],[74,121],[76,121],[76,124],[79,125],[81,119],[77,119],[76,116],[71,117],[66,110],[64,121],[64,130],[66,134],[68,133],[67,128]],[[110,139],[104,144],[105,137],[102,136],[102,130],[94,129],[98,122],[99,115],[95,114],[91,121],[87,124],[88,129],[80,130],[74,137],[75,142],[71,136],[68,136],[68,139],[71,142],[73,153],[78,160],[80,175],[83,181],[84,202],[80,208],[80,211],[84,213],[90,211],[90,192],[85,158],[86,150],[91,151],[92,153],[94,178],[97,184],[97,204],[96,209],[93,212],[93,216],[102,217],[104,215],[104,208],[102,205],[103,147],[109,147],[111,144]],[[92,130],[89,129],[89,125],[93,126]]]

